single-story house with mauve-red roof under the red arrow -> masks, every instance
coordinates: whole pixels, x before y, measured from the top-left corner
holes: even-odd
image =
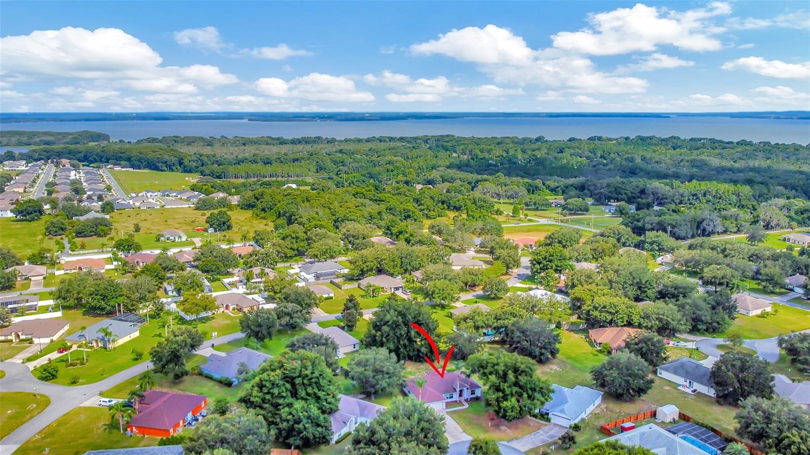
[[[424,379],[424,385],[416,385],[417,379]],[[405,393],[437,410],[445,409],[446,402],[471,400],[483,396],[483,388],[474,379],[461,372],[445,372],[441,377],[436,372],[425,372],[424,376],[410,377],[405,381]]]

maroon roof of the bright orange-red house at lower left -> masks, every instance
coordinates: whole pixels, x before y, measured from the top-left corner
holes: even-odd
[[[147,390],[138,404],[130,425],[168,430],[180,423],[195,407],[203,404],[203,395]]]

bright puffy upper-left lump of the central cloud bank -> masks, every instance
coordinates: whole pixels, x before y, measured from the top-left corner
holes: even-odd
[[[492,24],[453,29],[438,40],[411,45],[411,51],[424,55],[441,53],[461,62],[484,65],[528,65],[535,53],[522,37]]]

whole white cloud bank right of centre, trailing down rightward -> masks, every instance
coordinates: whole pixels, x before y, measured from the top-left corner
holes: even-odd
[[[538,85],[553,90],[590,93],[645,91],[647,82],[600,72],[590,59],[559,49],[531,49],[506,28],[488,25],[452,30],[438,40],[411,45],[417,54],[440,53],[478,69],[498,83]]]

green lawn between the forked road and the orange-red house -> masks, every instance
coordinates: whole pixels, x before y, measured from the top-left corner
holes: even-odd
[[[122,433],[117,427],[110,427],[107,408],[77,407],[36,433],[15,453],[40,455],[45,449],[50,453],[85,453],[88,450],[157,445],[158,439],[130,437],[126,436],[126,428]]]

